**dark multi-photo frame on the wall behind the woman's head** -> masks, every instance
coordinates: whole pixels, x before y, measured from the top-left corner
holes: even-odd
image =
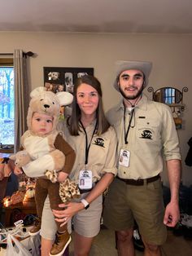
[[[84,75],[94,75],[94,68],[61,68],[61,67],[44,67],[44,86],[46,90],[57,93],[59,91],[68,91],[73,94],[73,87],[76,78]],[[63,119],[72,113],[71,106],[60,108],[60,117]]]

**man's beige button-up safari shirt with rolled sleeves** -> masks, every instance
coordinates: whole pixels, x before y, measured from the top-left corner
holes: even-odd
[[[118,166],[121,179],[147,179],[163,170],[165,161],[181,159],[177,130],[171,109],[161,103],[151,101],[142,95],[135,106],[128,144],[124,143],[124,104],[120,102],[107,113],[107,118],[116,129],[118,153],[120,149],[129,150],[129,167]],[[125,113],[125,132],[130,115]],[[119,162],[119,161],[118,161]]]

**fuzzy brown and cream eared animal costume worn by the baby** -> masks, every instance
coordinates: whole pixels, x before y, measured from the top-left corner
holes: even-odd
[[[28,177],[37,178],[35,200],[39,220],[36,227],[30,231],[30,234],[34,236],[40,232],[41,215],[47,195],[50,199],[50,208],[61,210],[59,204],[62,203],[62,200],[59,196],[59,187],[65,188],[66,184],[69,188],[72,182],[69,179],[66,179],[63,184],[56,182],[57,171],[68,174],[71,172],[75,161],[75,152],[56,130],[60,106],[71,104],[72,95],[64,91],[55,95],[51,91],[46,91],[45,87],[37,87],[30,96],[32,99],[28,108],[28,130],[21,137],[22,151],[11,156],[11,159],[15,160],[16,166],[23,168]],[[31,126],[33,113],[44,113],[53,117],[53,129],[50,133],[36,135],[33,132]],[[68,191],[68,189],[66,190]],[[80,194],[78,188],[74,186],[70,192],[67,196],[68,200],[70,196],[76,197]],[[60,194],[63,193],[60,192]],[[63,201],[68,200],[64,195]],[[56,222],[56,224],[59,233],[67,232],[67,225],[60,227],[60,223]]]

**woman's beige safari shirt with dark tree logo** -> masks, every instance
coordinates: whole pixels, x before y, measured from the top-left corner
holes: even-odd
[[[94,132],[95,121],[86,127],[88,145]],[[59,127],[61,129],[61,127]],[[63,123],[64,139],[76,152],[76,161],[69,177],[76,183],[79,182],[80,170],[85,170],[85,132],[80,135],[70,135],[66,123]],[[116,131],[110,127],[103,135],[94,135],[90,143],[87,170],[92,170],[93,183],[102,178],[103,174],[117,173],[116,169]]]

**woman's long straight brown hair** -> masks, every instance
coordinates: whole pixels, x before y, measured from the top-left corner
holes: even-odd
[[[72,101],[72,116],[68,119],[68,130],[71,135],[79,135],[79,132],[81,131],[80,126],[80,120],[81,120],[81,110],[79,108],[79,105],[77,104],[76,100],[76,91],[79,86],[81,86],[82,83],[85,83],[89,86],[94,87],[95,90],[98,92],[98,108],[96,110],[96,120],[97,120],[97,130],[96,134],[101,135],[107,129],[109,128],[109,122],[107,121],[107,118],[105,117],[104,111],[103,111],[103,101],[102,101],[102,89],[101,84],[98,81],[96,77],[85,75],[83,77],[79,77],[76,79],[76,83],[74,85],[74,99]]]

